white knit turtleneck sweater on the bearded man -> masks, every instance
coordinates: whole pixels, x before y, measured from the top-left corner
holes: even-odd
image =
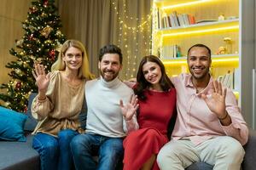
[[[122,116],[119,100],[126,104],[133,91],[116,77],[111,82],[98,78],[86,82],[85,98],[88,107],[86,133],[96,133],[102,136],[119,138],[127,132]],[[136,122],[136,116],[133,117]],[[137,128],[135,126],[134,128]]]

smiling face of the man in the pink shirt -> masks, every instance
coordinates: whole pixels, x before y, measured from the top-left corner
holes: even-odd
[[[189,51],[188,56],[189,71],[192,78],[197,81],[207,80],[212,59],[207,48],[194,47]]]

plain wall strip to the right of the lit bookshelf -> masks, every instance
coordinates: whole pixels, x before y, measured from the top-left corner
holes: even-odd
[[[255,0],[241,1],[241,112],[248,127],[255,129],[255,111],[253,113],[253,68],[255,69]],[[254,101],[255,102],[255,101]]]

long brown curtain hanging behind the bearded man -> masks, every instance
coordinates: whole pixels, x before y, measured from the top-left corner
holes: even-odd
[[[119,77],[136,77],[137,66],[151,50],[150,0],[60,0],[62,31],[84,43],[90,70],[98,75],[98,52],[118,45],[124,56]]]

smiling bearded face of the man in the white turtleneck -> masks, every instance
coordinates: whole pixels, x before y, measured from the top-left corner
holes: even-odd
[[[119,61],[119,54],[104,54],[98,64],[102,78],[106,82],[112,81],[118,77],[122,65]]]

